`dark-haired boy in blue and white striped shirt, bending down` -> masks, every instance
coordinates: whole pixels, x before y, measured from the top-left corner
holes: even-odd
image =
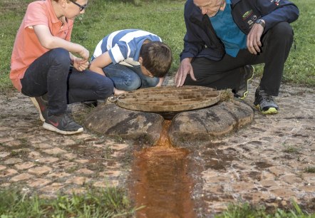
[[[172,51],[159,36],[125,29],[98,43],[90,70],[110,78],[115,88],[129,91],[162,85],[171,63]]]

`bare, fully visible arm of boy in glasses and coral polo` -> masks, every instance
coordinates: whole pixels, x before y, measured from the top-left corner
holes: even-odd
[[[49,50],[53,48],[65,48],[71,53],[77,53],[81,56],[81,58],[83,58],[84,62],[88,61],[90,53],[83,46],[51,35],[51,31],[49,31],[49,28],[46,25],[34,25],[33,29],[39,42],[41,43],[41,46],[44,48]]]

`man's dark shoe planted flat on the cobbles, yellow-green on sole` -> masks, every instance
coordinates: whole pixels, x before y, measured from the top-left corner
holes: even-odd
[[[264,90],[259,90],[259,88],[257,88],[255,93],[254,106],[263,114],[278,113],[279,110],[272,96],[268,95]]]

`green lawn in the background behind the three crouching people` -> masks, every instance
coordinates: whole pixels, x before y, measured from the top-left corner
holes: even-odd
[[[32,0],[0,1],[0,90],[12,88],[9,81],[10,58],[16,31],[27,4]],[[185,1],[110,1],[90,0],[86,14],[76,19],[72,41],[86,46],[92,54],[96,44],[108,33],[123,28],[140,28],[158,34],[172,48],[175,73],[180,63],[185,35]],[[295,0],[300,16],[294,28],[294,46],[284,68],[284,82],[315,86],[315,15],[314,0]],[[262,66],[257,67],[258,75]]]

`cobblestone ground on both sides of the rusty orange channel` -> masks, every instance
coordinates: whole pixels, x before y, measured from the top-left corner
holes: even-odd
[[[245,100],[252,105],[254,88]],[[200,214],[223,209],[237,199],[283,206],[293,197],[315,208],[315,91],[282,85],[280,113],[255,113],[238,133],[196,149],[190,157],[199,171],[193,198]],[[88,109],[72,105],[76,120]],[[36,108],[19,93],[0,95],[0,186],[20,187],[53,197],[91,186],[125,185],[128,142],[88,130],[63,136],[44,130]],[[105,122],[105,121],[104,121]],[[128,162],[128,161],[127,161]]]

